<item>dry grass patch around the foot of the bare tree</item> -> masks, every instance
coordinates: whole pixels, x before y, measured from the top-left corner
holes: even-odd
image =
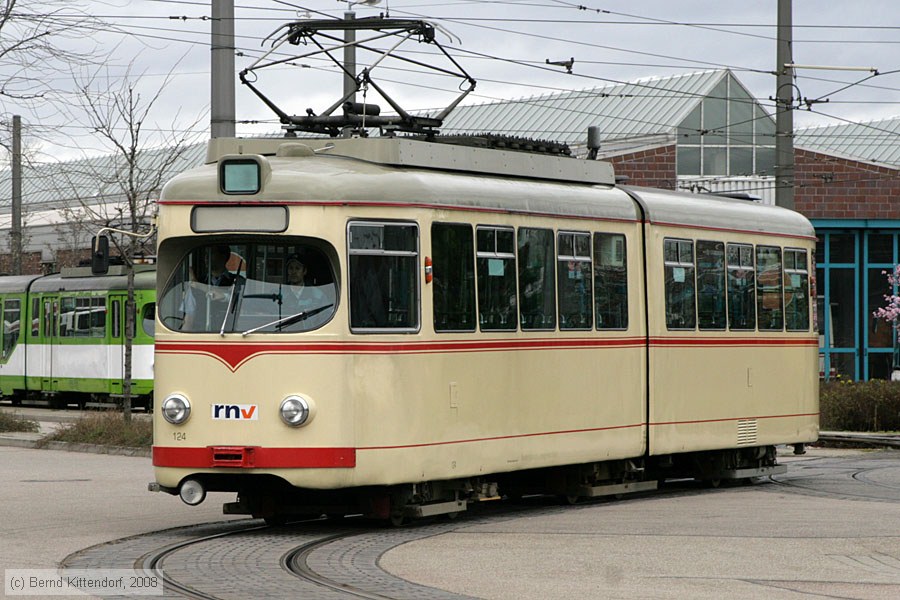
[[[117,411],[89,413],[64,424],[41,441],[149,448],[153,443],[153,422],[133,418],[126,423]]]

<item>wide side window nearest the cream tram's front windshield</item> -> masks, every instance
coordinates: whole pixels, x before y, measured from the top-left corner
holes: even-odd
[[[419,230],[415,224],[355,222],[348,227],[350,329],[419,327]]]

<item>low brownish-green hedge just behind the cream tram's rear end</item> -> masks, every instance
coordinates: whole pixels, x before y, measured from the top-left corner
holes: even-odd
[[[821,428],[826,431],[898,431],[900,382],[822,382],[819,409]]]

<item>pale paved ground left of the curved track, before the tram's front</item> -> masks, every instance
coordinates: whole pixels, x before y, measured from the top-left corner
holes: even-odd
[[[0,567],[54,568],[88,546],[225,519],[219,494],[192,508],[148,492],[152,479],[143,457],[0,446]]]

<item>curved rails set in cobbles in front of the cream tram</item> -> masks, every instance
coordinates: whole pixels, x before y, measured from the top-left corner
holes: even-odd
[[[346,523],[321,519],[278,527],[258,523],[160,546],[136,559],[133,567],[161,577],[167,598],[233,600],[261,593],[308,600],[464,598],[396,578],[371,559],[371,548],[374,556],[380,556],[407,541],[444,533],[455,527],[451,523],[400,529],[369,526],[352,518]],[[332,544],[337,545],[333,550]],[[318,559],[311,560],[317,553]],[[206,558],[198,562],[201,556]],[[230,572],[228,561],[215,557],[231,557],[238,572]],[[256,578],[254,566],[262,567]],[[390,595],[376,591],[382,589],[390,590]]]

